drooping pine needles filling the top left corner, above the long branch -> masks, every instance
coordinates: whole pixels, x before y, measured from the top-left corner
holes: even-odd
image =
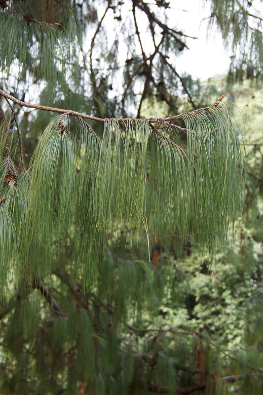
[[[42,3],[32,7],[28,1],[10,1],[0,12],[0,68],[8,70],[8,79],[17,60],[22,79],[29,69],[33,80],[59,81],[63,86],[69,62],[77,63],[76,43],[82,39],[77,10],[71,1]]]

